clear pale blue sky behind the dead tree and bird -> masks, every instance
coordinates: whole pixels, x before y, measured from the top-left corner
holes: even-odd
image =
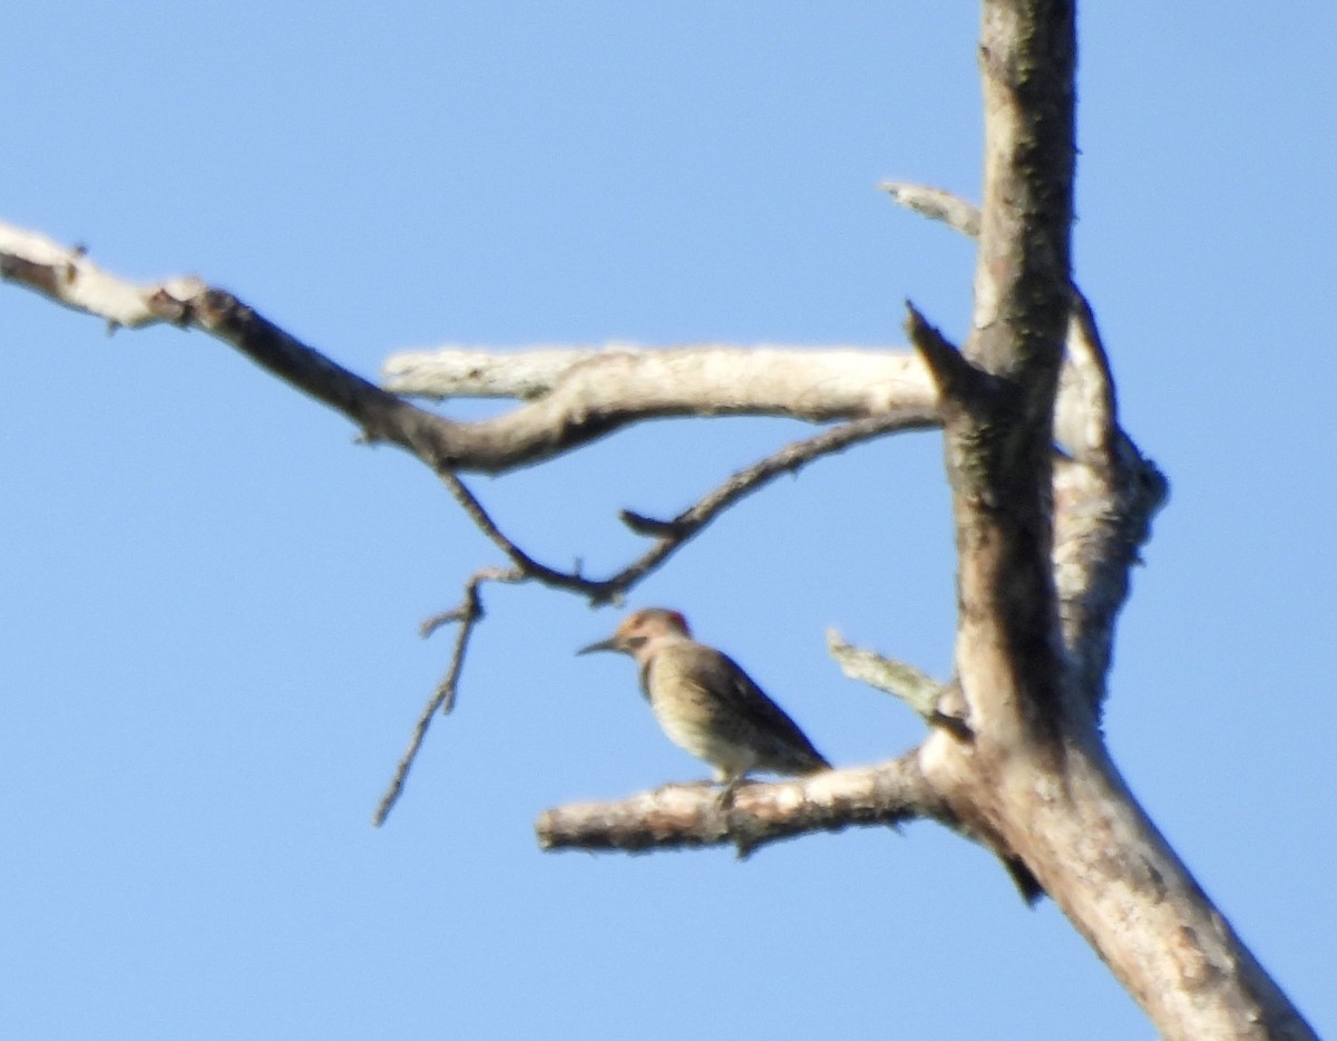
[[[977,11],[943,5],[20,5],[0,218],[195,272],[374,373],[396,349],[948,333],[971,250],[884,178],[979,191]],[[1107,732],[1132,789],[1337,1032],[1337,265],[1330,41],[1142,0],[1082,13],[1078,278],[1173,482]],[[1052,906],[931,826],[758,854],[545,855],[572,799],[701,775],[614,611],[487,593],[460,706],[372,811],[497,554],[433,478],[221,344],[0,288],[0,1034],[1150,1036]],[[471,409],[459,409],[472,413]],[[798,424],[651,424],[475,487],[536,554],[636,549]],[[840,764],[916,719],[837,626],[945,674],[936,436],[742,503],[634,597],[685,610]]]

